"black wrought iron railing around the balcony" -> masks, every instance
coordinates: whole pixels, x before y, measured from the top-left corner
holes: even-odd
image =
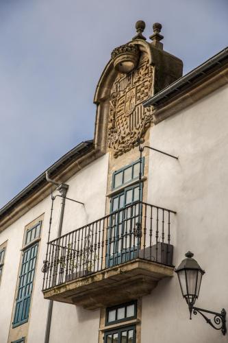
[[[133,259],[173,264],[174,211],[135,202],[47,244],[43,290]]]

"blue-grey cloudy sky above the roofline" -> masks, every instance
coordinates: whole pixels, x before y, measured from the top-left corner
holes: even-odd
[[[227,46],[227,0],[0,0],[0,207],[92,139],[94,90],[138,19],[184,73]]]

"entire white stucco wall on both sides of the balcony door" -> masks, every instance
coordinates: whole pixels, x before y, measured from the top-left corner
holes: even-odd
[[[151,128],[151,146],[179,156],[176,161],[151,152],[148,202],[177,211],[171,225],[178,265],[192,250],[206,274],[197,306],[228,311],[227,205],[228,205],[228,88],[182,110]],[[107,186],[108,155],[94,161],[66,183],[62,233],[70,232],[103,217]],[[60,198],[53,211],[51,239],[56,237]],[[0,342],[8,340],[24,228],[45,213],[29,315],[27,342],[44,342],[48,301],[42,296],[42,261],[45,259],[51,201],[46,198],[0,234],[0,245],[8,240],[0,285]],[[99,311],[62,303],[53,304],[50,343],[95,343],[98,340]],[[200,315],[189,320],[177,276],[158,283],[142,299],[141,343],[223,343],[227,336],[210,328]]]

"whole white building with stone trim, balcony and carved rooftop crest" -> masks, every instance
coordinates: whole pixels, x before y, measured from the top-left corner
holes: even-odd
[[[182,76],[161,28],[112,51],[94,139],[0,210],[1,343],[226,342],[174,270],[192,250],[197,306],[228,309],[228,49]]]

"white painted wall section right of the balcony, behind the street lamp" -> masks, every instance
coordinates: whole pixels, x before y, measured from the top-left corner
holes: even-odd
[[[148,202],[177,211],[174,264],[191,250],[206,274],[196,306],[228,311],[228,88],[151,128]],[[142,343],[223,343],[198,314],[189,320],[175,275],[142,300]]]

